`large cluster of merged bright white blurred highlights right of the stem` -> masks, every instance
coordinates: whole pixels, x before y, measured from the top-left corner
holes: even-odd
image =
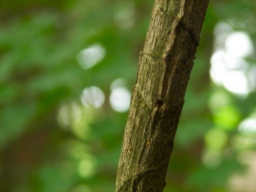
[[[255,78],[245,58],[253,51],[246,32],[233,32],[228,23],[218,23],[215,26],[215,52],[211,57],[212,81],[237,96],[248,96],[255,89]]]

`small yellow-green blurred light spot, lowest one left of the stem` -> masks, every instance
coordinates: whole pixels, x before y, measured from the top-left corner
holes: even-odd
[[[96,171],[96,159],[87,155],[78,163],[78,173],[82,178],[89,178],[93,176]]]

